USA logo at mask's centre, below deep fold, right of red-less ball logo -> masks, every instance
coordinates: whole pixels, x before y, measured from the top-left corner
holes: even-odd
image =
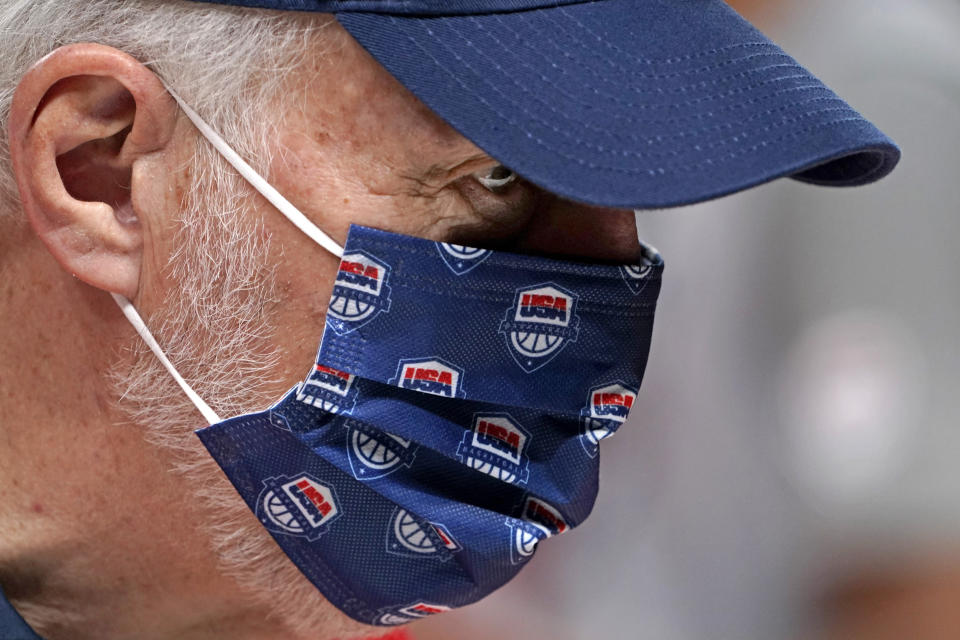
[[[506,413],[476,414],[473,428],[457,447],[457,457],[471,469],[511,484],[529,475],[526,450],[530,433]]]

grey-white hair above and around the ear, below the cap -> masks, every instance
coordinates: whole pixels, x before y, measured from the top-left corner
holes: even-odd
[[[329,18],[183,0],[0,0],[0,219],[16,210],[6,122],[23,74],[57,47],[96,42],[154,70],[258,169],[286,72]]]

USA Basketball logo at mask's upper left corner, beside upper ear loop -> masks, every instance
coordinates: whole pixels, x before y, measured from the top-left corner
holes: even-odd
[[[327,306],[327,324],[344,335],[389,311],[389,277],[390,266],[366,251],[344,255]]]

